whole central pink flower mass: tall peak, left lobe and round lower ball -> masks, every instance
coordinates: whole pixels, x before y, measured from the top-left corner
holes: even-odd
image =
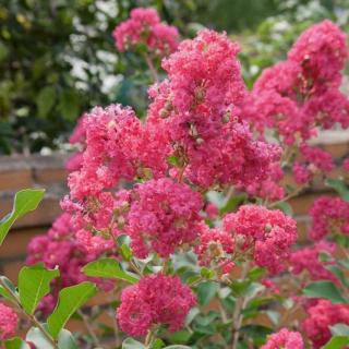
[[[70,166],[75,170],[62,207],[88,251],[111,249],[111,234],[124,226],[136,256],[167,256],[197,237],[202,208],[200,194],[173,181],[243,189],[267,178],[280,148],[255,141],[240,120],[245,88],[238,51],[226,34],[203,31],[164,61],[169,80],[151,88],[154,101],[144,122],[120,105],[83,116],[71,139],[83,151]],[[120,225],[115,192],[136,179],[154,180],[124,194],[129,198],[121,202],[130,207],[118,217],[124,219]]]

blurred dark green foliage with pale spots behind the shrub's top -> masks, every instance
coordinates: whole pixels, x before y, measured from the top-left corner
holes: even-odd
[[[310,24],[349,29],[348,0],[0,0],[0,154],[67,151],[83,111],[147,104],[145,67],[119,55],[112,29],[134,7],[154,7],[192,37],[203,26],[240,41],[246,84],[282,59]]]

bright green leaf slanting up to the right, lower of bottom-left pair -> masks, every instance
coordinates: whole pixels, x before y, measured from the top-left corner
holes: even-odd
[[[58,337],[69,318],[96,293],[96,290],[93,282],[85,281],[67,287],[59,292],[58,304],[47,320],[48,330],[53,338]]]

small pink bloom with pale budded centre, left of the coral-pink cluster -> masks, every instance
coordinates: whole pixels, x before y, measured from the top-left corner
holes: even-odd
[[[195,253],[201,265],[210,266],[210,263],[217,265],[231,258],[233,244],[233,239],[227,231],[202,225],[200,244],[195,246]],[[222,265],[226,266],[226,263]]]

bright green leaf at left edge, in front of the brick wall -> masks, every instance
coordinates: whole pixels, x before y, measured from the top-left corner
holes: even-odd
[[[44,197],[44,189],[25,189],[15,194],[12,212],[0,220],[0,245],[14,221],[36,209]]]

